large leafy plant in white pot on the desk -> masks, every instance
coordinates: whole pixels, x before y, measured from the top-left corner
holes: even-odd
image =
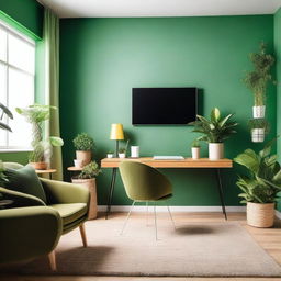
[[[202,136],[198,137],[198,140],[204,140],[209,143],[209,159],[218,160],[224,158],[224,140],[232,134],[235,134],[236,122],[229,122],[233,114],[228,114],[225,117],[221,116],[217,108],[211,111],[211,119],[207,120],[201,115],[198,115],[198,120],[189,123],[194,125],[192,132],[201,133]]]

